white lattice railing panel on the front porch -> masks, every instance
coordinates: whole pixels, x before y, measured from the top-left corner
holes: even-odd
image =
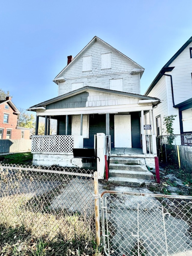
[[[73,135],[34,135],[32,152],[72,152]]]

